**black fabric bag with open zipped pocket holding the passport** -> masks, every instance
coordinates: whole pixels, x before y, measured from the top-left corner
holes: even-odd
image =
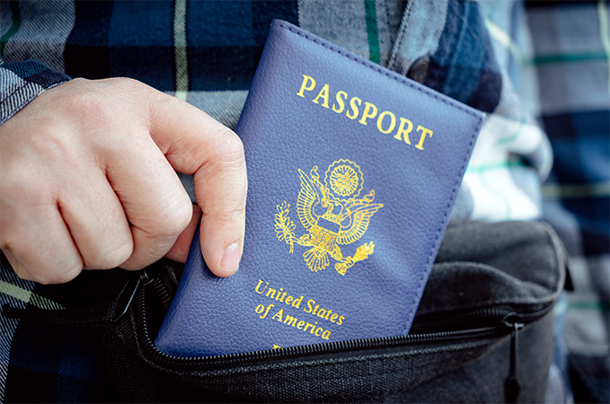
[[[544,401],[553,360],[553,307],[566,282],[566,256],[547,224],[451,224],[411,332],[401,337],[168,356],[152,341],[181,269],[164,259],[137,273],[117,270],[111,282],[115,297],[92,306],[63,311],[4,306],[3,312],[96,333],[104,400]],[[84,273],[95,279],[77,282],[100,285],[99,277],[111,273]]]

